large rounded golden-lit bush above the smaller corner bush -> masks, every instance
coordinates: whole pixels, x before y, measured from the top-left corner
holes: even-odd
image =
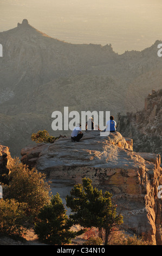
[[[50,200],[50,186],[45,178],[46,175],[35,168],[29,169],[28,166],[15,159],[10,166],[9,184],[4,189],[4,198],[27,203],[27,214],[36,216]]]

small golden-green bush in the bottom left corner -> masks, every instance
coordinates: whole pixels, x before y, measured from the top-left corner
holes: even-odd
[[[15,199],[0,199],[0,233],[1,235],[18,235],[25,233],[26,204],[18,203]]]

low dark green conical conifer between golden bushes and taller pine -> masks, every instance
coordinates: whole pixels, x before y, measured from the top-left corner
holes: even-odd
[[[57,193],[38,214],[34,231],[42,242],[64,245],[70,243],[71,239],[76,236],[75,232],[70,231],[72,224],[66,215],[60,195]]]

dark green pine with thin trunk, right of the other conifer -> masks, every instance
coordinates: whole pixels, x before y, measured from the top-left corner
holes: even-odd
[[[122,223],[122,215],[116,214],[116,205],[112,202],[112,194],[93,188],[92,180],[84,178],[83,185],[77,184],[66,197],[67,206],[73,214],[70,218],[82,227],[96,227],[105,230],[105,245],[108,235],[115,225]]]

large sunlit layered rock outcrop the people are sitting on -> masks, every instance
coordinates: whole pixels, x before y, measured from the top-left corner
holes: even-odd
[[[124,229],[162,244],[160,155],[134,153],[132,139],[119,132],[100,136],[99,131],[84,132],[78,143],[60,138],[53,144],[31,145],[21,155],[23,163],[58,182],[92,179],[93,186],[113,194],[124,216]]]

